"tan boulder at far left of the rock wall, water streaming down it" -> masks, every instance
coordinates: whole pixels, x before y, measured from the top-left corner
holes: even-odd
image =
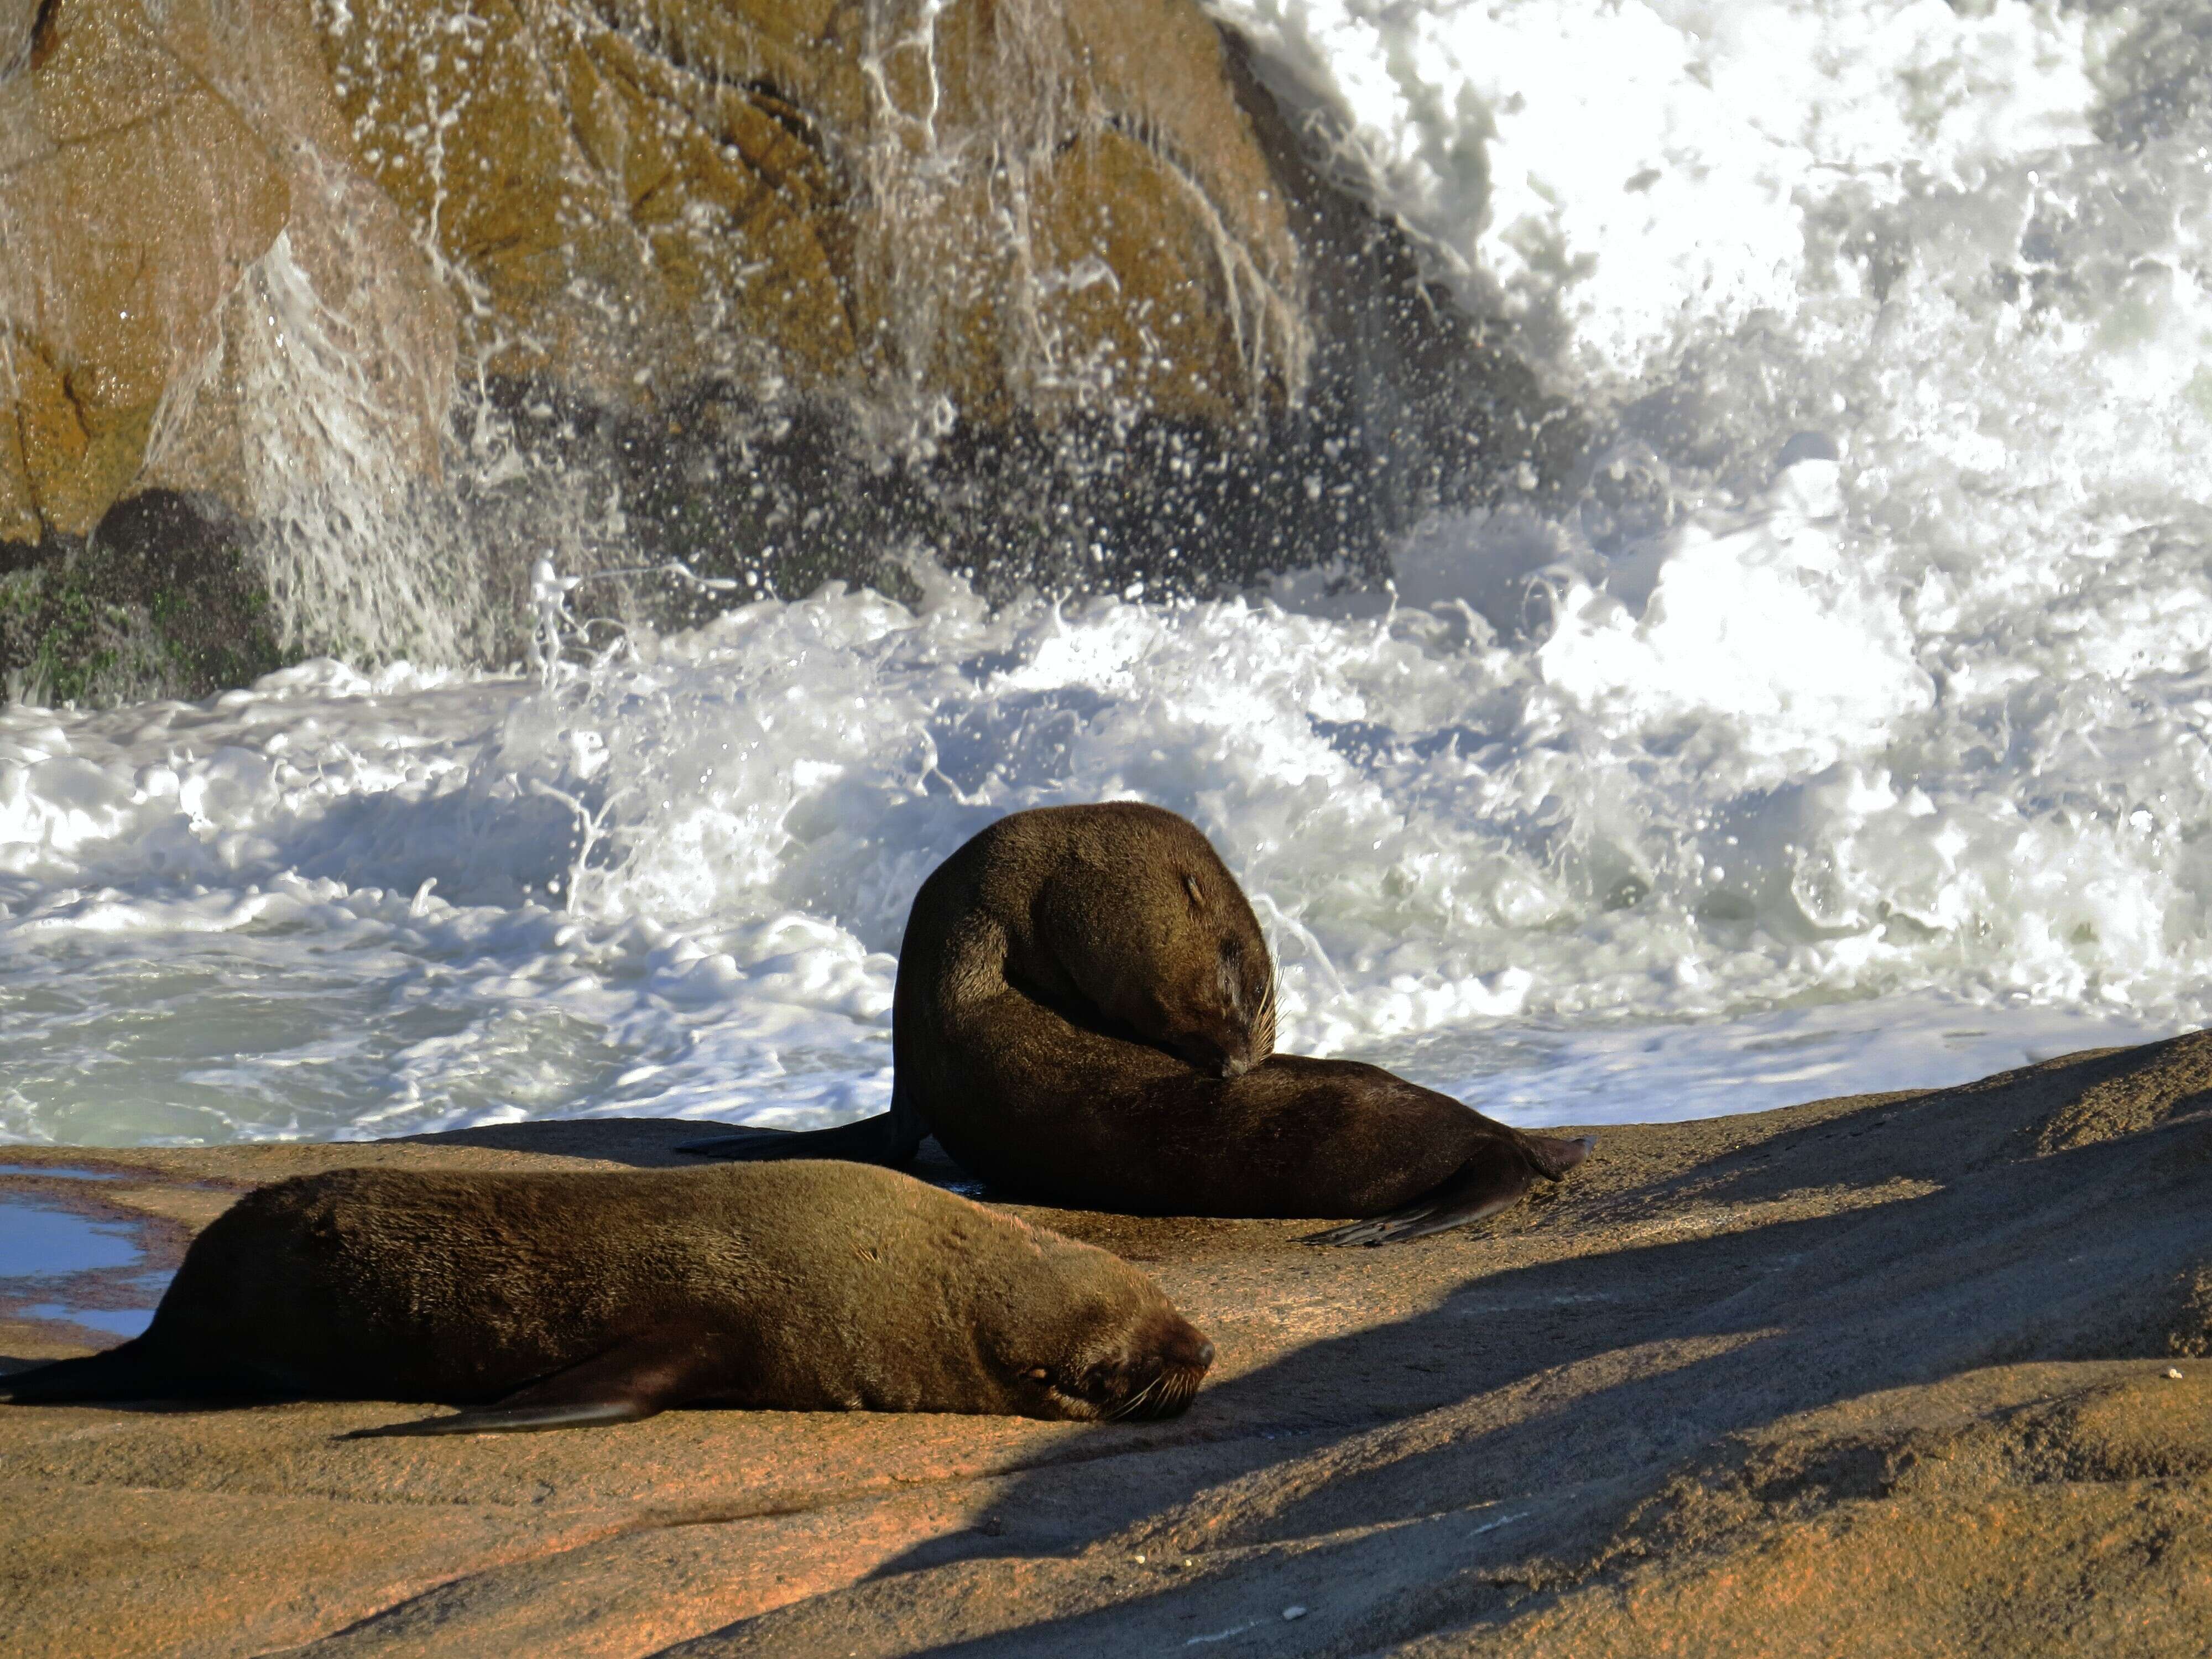
[[[0,538],[82,538],[157,484],[263,504],[239,380],[257,327],[281,330],[254,305],[272,270],[341,332],[387,325],[363,343],[398,349],[361,369],[409,383],[380,425],[434,465],[445,299],[347,173],[303,24],[285,0],[55,0],[27,51],[0,42]]]

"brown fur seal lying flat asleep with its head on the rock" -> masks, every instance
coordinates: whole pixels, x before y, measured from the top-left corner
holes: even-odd
[[[1119,1256],[891,1170],[332,1170],[217,1217],[144,1336],[0,1391],[471,1407],[369,1436],[677,1405],[1155,1418],[1212,1358]]]

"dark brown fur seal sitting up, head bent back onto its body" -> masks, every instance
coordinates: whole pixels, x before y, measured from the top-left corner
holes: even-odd
[[[1274,1055],[1274,967],[1199,830],[1106,803],[1000,818],[922,883],[898,953],[891,1110],[710,1157],[962,1166],[1055,1203],[1367,1221],[1323,1243],[1467,1225],[1590,1141],[1524,1135],[1349,1060]]]

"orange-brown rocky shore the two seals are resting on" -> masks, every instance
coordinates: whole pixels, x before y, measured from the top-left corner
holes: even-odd
[[[0,1214],[133,1234],[142,1261],[64,1298],[122,1307],[257,1181],[666,1166],[692,1133],[11,1148]],[[22,1659],[2194,1652],[2208,1192],[2199,1033],[1608,1128],[1522,1210],[1391,1250],[1024,1208],[1212,1334],[1164,1425],[341,1442],[394,1407],[9,1407],[0,1626]],[[4,1287],[0,1365],[97,1345],[62,1290]]]

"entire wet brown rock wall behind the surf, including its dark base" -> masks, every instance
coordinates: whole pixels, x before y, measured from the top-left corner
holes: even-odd
[[[0,4],[0,542],[166,491],[292,650],[500,659],[560,538],[1376,568],[1573,449],[1194,0]]]

